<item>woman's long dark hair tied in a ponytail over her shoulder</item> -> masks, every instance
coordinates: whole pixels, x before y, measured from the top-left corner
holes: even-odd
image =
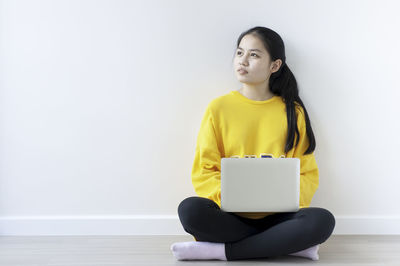
[[[301,106],[304,110],[306,131],[310,144],[304,155],[311,154],[315,150],[315,137],[311,128],[311,123],[306,107],[299,97],[299,89],[297,88],[296,78],[286,64],[285,45],[282,38],[279,36],[278,33],[271,29],[265,27],[254,27],[240,34],[237,40],[236,48],[239,47],[240,41],[247,34],[252,34],[260,39],[260,41],[262,41],[265,49],[270,54],[272,61],[275,61],[277,59],[282,60],[282,65],[279,70],[272,73],[269,78],[269,89],[273,94],[281,96],[286,105],[288,135],[286,139],[285,152],[288,152],[293,148],[294,138],[296,136],[295,133],[297,134],[295,146],[297,146],[297,144],[299,143],[300,134],[297,127],[295,113],[295,105],[297,105]]]

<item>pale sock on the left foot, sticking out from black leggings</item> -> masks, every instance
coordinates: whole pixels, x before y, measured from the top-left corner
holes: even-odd
[[[227,260],[225,243],[189,241],[171,245],[172,253],[178,260]]]

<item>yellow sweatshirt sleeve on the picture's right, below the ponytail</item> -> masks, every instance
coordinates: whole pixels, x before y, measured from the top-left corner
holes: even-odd
[[[314,152],[303,155],[309,146],[303,109],[298,112],[299,143],[293,157],[300,158],[300,208],[309,207],[319,185],[319,170]],[[296,143],[296,142],[295,142]]]

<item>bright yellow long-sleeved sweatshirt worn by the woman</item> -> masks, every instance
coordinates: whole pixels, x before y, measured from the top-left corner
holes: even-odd
[[[285,153],[287,137],[286,107],[282,97],[254,101],[239,91],[213,99],[207,106],[197,136],[192,167],[192,184],[196,194],[213,200],[221,207],[221,158],[273,157],[300,158],[300,208],[309,207],[319,184],[314,153],[308,148],[304,110],[296,105],[299,144]],[[296,143],[296,139],[295,142]],[[259,219],[273,212],[235,212]]]

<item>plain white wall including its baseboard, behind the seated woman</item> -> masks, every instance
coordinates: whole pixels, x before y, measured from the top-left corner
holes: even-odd
[[[206,105],[265,26],[316,137],[334,234],[400,234],[396,1],[1,1],[0,234],[187,234]]]

